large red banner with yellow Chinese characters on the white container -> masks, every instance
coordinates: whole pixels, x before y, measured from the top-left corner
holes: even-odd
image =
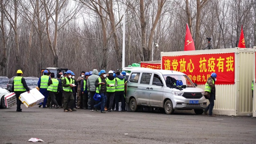
[[[162,69],[180,71],[192,82],[205,84],[211,73],[217,74],[216,84],[234,84],[235,53],[163,56]]]

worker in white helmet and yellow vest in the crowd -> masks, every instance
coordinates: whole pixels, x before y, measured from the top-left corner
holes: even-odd
[[[109,76],[106,78],[107,82],[107,93],[106,93],[106,102],[105,110],[111,112],[113,101],[115,98],[115,88],[116,88],[116,79],[113,76],[113,71],[109,71]]]

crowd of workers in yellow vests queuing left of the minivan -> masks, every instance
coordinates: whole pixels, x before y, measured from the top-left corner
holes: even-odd
[[[94,69],[90,72],[82,71],[75,79],[75,74],[68,70],[64,74],[49,74],[43,71],[43,76],[39,78],[38,87],[45,96],[39,107],[43,108],[64,108],[64,112],[76,111],[78,109],[89,109],[90,111],[118,111],[119,101],[121,101],[122,111],[125,110],[125,75],[126,72],[112,70],[106,73],[105,70]],[[95,101],[94,95],[100,95],[99,101]],[[76,99],[77,97],[77,107]],[[116,109],[115,109],[116,108]],[[18,108],[17,108],[18,109]]]

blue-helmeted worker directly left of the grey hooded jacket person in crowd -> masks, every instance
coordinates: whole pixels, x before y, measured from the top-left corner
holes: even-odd
[[[80,84],[80,89],[82,91],[83,94],[83,109],[88,109],[89,107],[89,102],[88,102],[88,87],[87,87],[87,79],[89,77],[89,73],[85,72],[85,76],[84,79],[81,80],[81,84]]]

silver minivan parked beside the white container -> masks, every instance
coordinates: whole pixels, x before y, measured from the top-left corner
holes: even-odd
[[[196,83],[192,83],[184,73],[150,68],[132,68],[129,71],[125,101],[131,111],[146,106],[164,108],[166,114],[173,114],[174,110],[194,110],[196,114],[202,114],[206,108],[204,90],[196,88]],[[180,91],[167,87],[165,80],[168,76],[182,80],[186,88]]]

